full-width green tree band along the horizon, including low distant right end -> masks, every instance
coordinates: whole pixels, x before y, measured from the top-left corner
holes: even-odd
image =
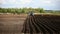
[[[21,14],[21,13],[54,13],[60,14],[60,10],[44,10],[43,8],[0,8],[0,13],[13,13],[13,14]]]

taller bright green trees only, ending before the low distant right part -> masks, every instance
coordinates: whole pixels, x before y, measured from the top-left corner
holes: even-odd
[[[44,13],[43,8],[0,8],[0,13],[21,14],[33,11],[34,13]]]

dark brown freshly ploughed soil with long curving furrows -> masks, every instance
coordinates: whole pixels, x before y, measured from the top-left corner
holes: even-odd
[[[60,16],[29,16],[22,30],[25,34],[60,34]]]

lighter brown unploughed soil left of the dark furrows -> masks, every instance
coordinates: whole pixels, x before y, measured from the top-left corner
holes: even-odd
[[[23,34],[26,15],[0,15],[0,34]]]

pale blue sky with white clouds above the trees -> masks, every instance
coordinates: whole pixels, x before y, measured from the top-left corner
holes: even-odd
[[[60,0],[0,0],[2,8],[44,8],[46,10],[60,10]]]

